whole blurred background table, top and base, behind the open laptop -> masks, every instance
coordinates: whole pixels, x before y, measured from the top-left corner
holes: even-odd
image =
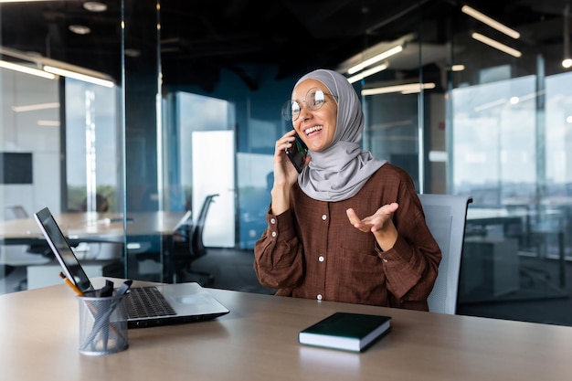
[[[175,229],[189,215],[182,211],[129,213],[125,226],[122,215],[111,213],[58,213],[54,214],[54,217],[82,263],[86,263],[87,260],[94,262],[92,265],[97,269],[92,275],[97,273],[97,275],[130,276],[141,279],[140,266],[136,259],[127,261],[130,264],[127,275],[124,269],[119,269],[117,266],[109,267],[109,261],[124,259],[125,242],[128,252],[134,253],[132,256],[148,250],[156,252],[159,257],[165,248],[170,248]],[[83,245],[78,246],[79,243]],[[51,250],[34,217],[0,221],[0,244],[6,245],[0,248],[0,263],[27,268],[26,288],[59,282],[58,278],[49,276],[54,273],[54,267],[58,268],[58,262],[51,255],[43,254]],[[18,245],[21,247],[16,247]],[[37,253],[29,252],[28,248],[32,246],[39,248]],[[121,263],[124,266],[126,261],[121,260]],[[104,269],[105,266],[108,270]],[[43,267],[45,269],[42,269]],[[158,271],[158,277],[161,265],[155,265],[153,270]],[[48,276],[44,275],[46,273]]]

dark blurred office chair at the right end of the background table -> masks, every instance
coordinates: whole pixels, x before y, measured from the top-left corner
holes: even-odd
[[[214,282],[213,276],[205,271],[193,270],[192,263],[207,255],[207,248],[203,243],[203,231],[207,220],[208,209],[215,197],[208,195],[201,206],[195,224],[185,224],[183,228],[175,231],[173,246],[167,261],[170,273],[173,274],[173,282],[197,281],[203,286],[210,286]]]

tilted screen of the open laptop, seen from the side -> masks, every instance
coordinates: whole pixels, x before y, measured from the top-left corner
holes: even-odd
[[[54,252],[59,253],[59,256],[57,255],[56,258],[61,267],[66,271],[68,279],[73,281],[80,291],[93,290],[90,279],[81,266],[79,266],[76,255],[71,250],[68,240],[64,237],[48,207],[35,213],[34,217],[36,217],[38,225],[44,233],[44,237],[48,240],[49,247]]]

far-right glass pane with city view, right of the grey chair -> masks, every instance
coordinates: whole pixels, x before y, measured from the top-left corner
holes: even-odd
[[[512,25],[515,33],[471,18],[471,30],[453,36],[452,63],[464,70],[451,77],[450,190],[474,197],[461,311],[531,302],[525,320],[533,301],[557,310],[569,297],[565,5],[540,6],[545,16]]]

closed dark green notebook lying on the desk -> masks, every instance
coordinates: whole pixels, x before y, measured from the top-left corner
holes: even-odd
[[[363,352],[387,333],[391,317],[335,312],[298,333],[301,344]]]

